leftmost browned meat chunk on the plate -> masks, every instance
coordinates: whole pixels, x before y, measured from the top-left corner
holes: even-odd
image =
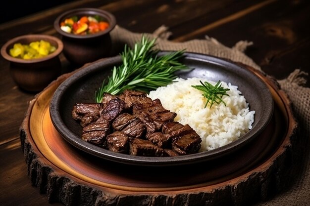
[[[73,106],[72,118],[84,127],[98,120],[102,109],[102,103],[77,103]]]

